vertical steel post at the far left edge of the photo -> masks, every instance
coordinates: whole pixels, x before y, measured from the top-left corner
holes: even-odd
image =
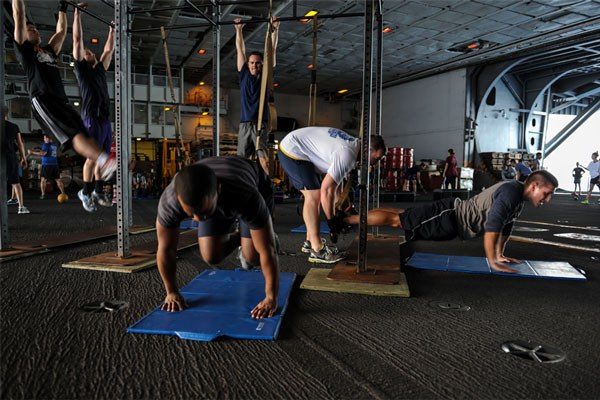
[[[6,162],[7,157],[4,155],[7,149],[4,148],[4,5],[0,4],[0,250],[8,248],[8,210],[6,206],[7,200],[7,184],[6,184]]]

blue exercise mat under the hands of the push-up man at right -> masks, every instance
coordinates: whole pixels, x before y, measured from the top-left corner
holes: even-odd
[[[585,281],[583,271],[562,261],[525,261],[521,264],[508,264],[516,269],[516,273],[493,271],[485,257],[447,256],[432,253],[415,253],[406,265],[419,269],[432,269],[448,272],[465,272],[469,274],[493,274],[507,276],[524,276],[544,279],[574,279]]]

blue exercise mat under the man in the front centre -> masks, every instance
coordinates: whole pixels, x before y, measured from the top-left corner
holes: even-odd
[[[220,336],[275,340],[295,278],[294,273],[280,272],[277,314],[271,318],[253,319],[250,311],[265,296],[262,272],[206,270],[181,289],[188,308],[167,312],[158,306],[127,332],[175,335],[205,342]]]

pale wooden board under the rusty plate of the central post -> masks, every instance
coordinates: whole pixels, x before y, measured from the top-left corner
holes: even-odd
[[[327,279],[330,269],[311,268],[300,285],[301,289],[319,290],[335,293],[354,293],[371,296],[410,297],[406,277],[398,272],[400,280],[397,285],[376,285],[361,282],[342,282]]]

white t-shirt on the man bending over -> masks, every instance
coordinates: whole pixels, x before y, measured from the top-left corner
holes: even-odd
[[[328,173],[339,184],[356,166],[360,144],[340,129],[309,126],[288,133],[279,149],[293,159],[310,161],[318,173]]]

